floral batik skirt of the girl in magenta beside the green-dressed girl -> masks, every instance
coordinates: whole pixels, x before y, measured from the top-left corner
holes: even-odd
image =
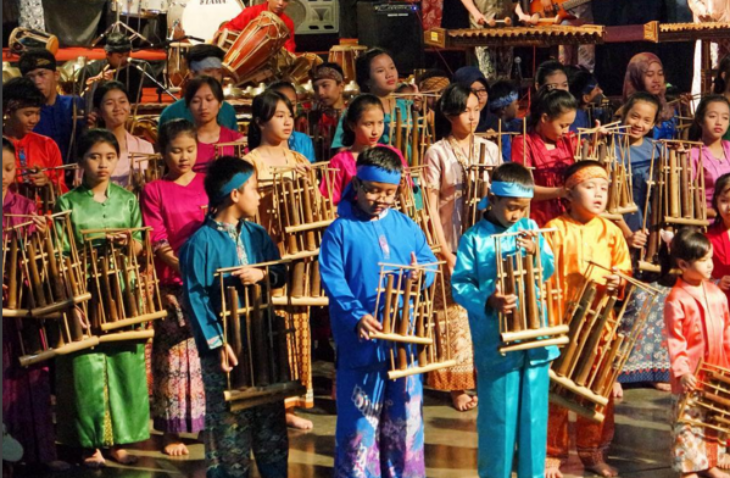
[[[184,298],[180,287],[165,287],[163,296]],[[156,320],[152,342],[152,420],[166,433],[197,433],[205,425],[205,389],[193,332],[181,305],[176,315]]]

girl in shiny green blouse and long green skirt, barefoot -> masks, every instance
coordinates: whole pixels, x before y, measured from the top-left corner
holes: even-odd
[[[56,204],[58,211],[72,211],[79,247],[84,229],[141,227],[137,198],[110,181],[119,160],[114,135],[104,129],[87,131],[79,141],[79,155],[83,183]],[[136,234],[133,248],[139,254],[141,234]],[[128,236],[108,235],[107,239],[124,244]],[[144,343],[100,344],[58,357],[56,365],[59,441],[84,449],[84,463],[92,468],[105,465],[102,449],[119,463],[136,462],[122,445],[150,436]]]

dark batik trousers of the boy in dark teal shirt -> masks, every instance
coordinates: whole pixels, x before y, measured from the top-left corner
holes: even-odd
[[[289,437],[283,402],[232,412],[223,396],[227,380],[218,353],[203,355],[201,364],[206,391],[206,477],[248,478],[253,452],[262,478],[286,478]]]

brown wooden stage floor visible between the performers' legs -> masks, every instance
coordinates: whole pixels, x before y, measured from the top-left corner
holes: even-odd
[[[324,393],[330,383],[326,379],[331,364],[317,363],[316,388]],[[477,434],[476,410],[459,413],[447,405],[446,394],[427,391],[424,406],[426,422],[426,465],[430,478],[476,478]],[[292,478],[329,478],[332,476],[335,404],[324,395],[317,397],[317,407],[300,415],[314,422],[311,432],[290,431],[289,476]],[[653,388],[626,390],[625,398],[616,405],[616,437],[610,450],[609,463],[622,477],[674,478],[669,466],[669,413],[671,396]],[[57,478],[204,478],[205,462],[202,443],[186,439],[190,456],[172,459],[159,452],[161,436],[154,436],[135,446],[131,453],[139,456],[132,467],[107,461],[108,467],[92,471],[74,467],[65,474],[23,473],[16,477]],[[63,451],[62,451],[63,453]],[[593,476],[584,474],[575,450],[563,470],[566,478]],[[257,478],[258,473],[253,474]],[[515,475],[516,476],[516,475]]]

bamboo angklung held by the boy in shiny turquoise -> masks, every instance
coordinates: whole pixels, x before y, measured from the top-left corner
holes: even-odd
[[[553,229],[539,229],[542,236]],[[568,326],[551,325],[548,311],[562,313],[562,294],[553,281],[544,279],[539,237],[534,240],[535,253],[529,254],[521,247],[514,252],[505,252],[502,241],[512,241],[522,232],[497,234],[494,237],[497,259],[497,280],[502,293],[517,296],[517,307],[507,314],[499,314],[499,331],[502,345],[499,352],[504,355],[516,350],[528,350],[548,345],[568,343]],[[557,269],[557,267],[556,267]]]

